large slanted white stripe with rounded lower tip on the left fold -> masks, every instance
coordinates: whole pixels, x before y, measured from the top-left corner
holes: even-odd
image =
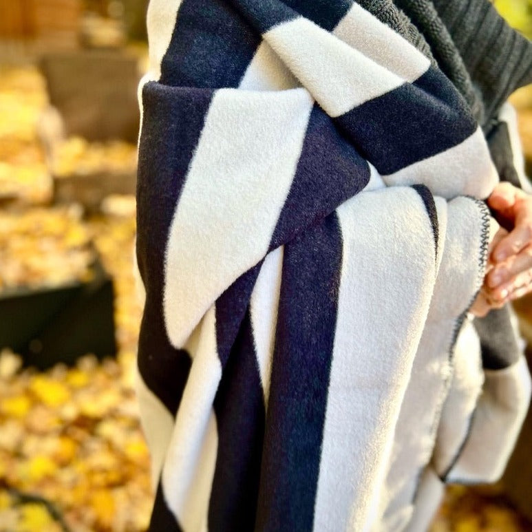
[[[312,103],[304,89],[216,92],[169,233],[164,317],[175,347],[266,255]]]

